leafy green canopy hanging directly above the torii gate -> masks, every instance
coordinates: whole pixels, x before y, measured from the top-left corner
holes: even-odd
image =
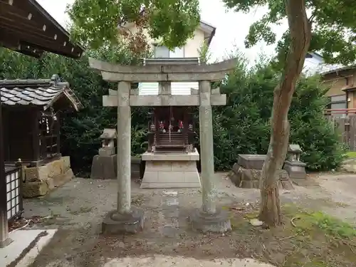
[[[118,29],[135,23],[138,31],[120,31],[132,51],[145,51],[150,38],[168,48],[184,46],[199,25],[199,0],[75,0],[67,6],[75,41],[91,48],[117,44]]]

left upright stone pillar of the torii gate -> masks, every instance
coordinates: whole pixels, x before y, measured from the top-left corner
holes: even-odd
[[[117,87],[117,211],[131,211],[131,108],[128,82]]]

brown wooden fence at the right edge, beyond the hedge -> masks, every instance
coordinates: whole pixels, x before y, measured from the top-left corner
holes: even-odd
[[[356,115],[347,117],[329,117],[333,129],[340,134],[340,140],[349,147],[350,151],[356,151]]]

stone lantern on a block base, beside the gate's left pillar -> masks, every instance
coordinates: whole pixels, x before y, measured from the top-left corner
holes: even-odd
[[[116,179],[117,177],[117,155],[115,153],[115,129],[104,129],[100,135],[102,146],[99,155],[93,157],[90,178],[93,179]]]

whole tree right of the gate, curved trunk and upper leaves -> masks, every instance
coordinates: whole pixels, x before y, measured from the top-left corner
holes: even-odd
[[[277,172],[286,157],[290,122],[288,113],[308,51],[320,51],[327,63],[355,61],[354,9],[350,0],[223,0],[227,7],[248,12],[258,5],[267,13],[250,26],[246,46],[263,40],[276,42],[271,26],[288,20],[288,31],[278,41],[278,67],[282,68],[273,93],[271,138],[261,173],[258,218],[268,226],[282,224]],[[308,16],[308,13],[310,14]]]

